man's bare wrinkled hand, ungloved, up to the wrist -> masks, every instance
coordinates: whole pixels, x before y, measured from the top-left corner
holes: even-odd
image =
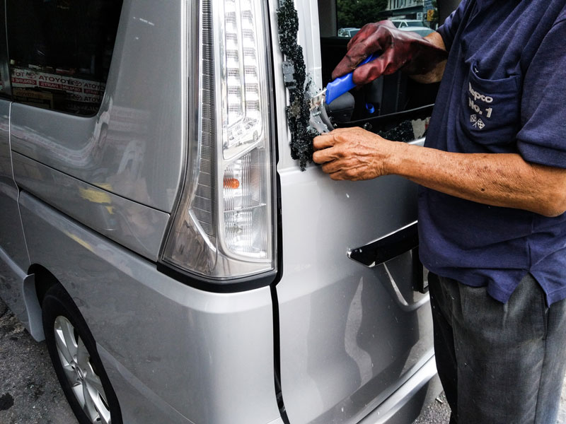
[[[332,179],[372,179],[388,173],[396,144],[359,127],[340,128],[314,139],[313,160]]]

